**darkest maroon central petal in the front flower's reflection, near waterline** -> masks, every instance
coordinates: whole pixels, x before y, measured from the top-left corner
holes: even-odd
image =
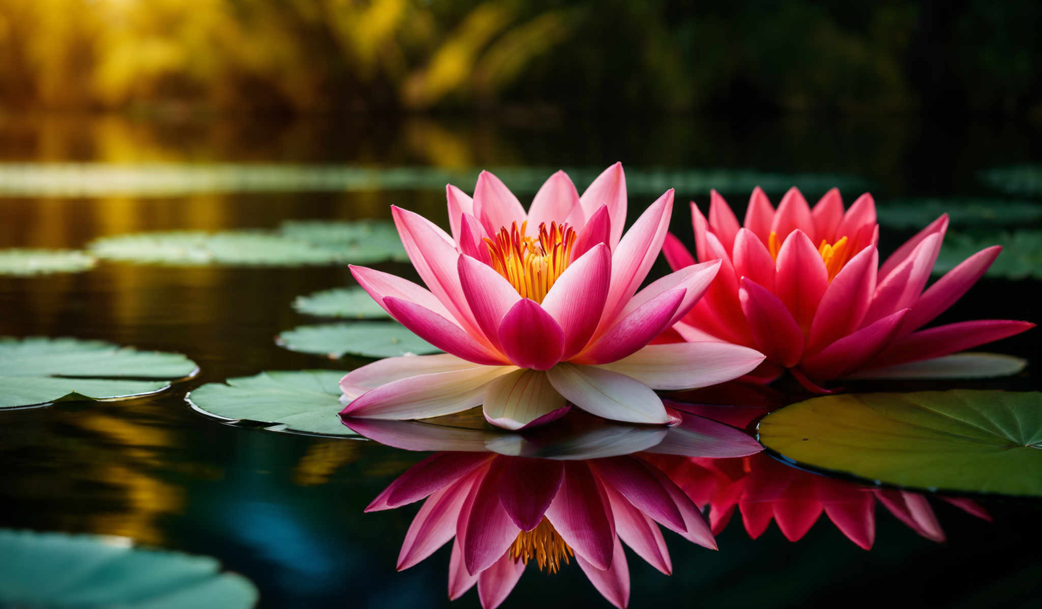
[[[522,531],[531,531],[561,488],[565,466],[551,459],[515,457],[506,461],[499,503]]]

